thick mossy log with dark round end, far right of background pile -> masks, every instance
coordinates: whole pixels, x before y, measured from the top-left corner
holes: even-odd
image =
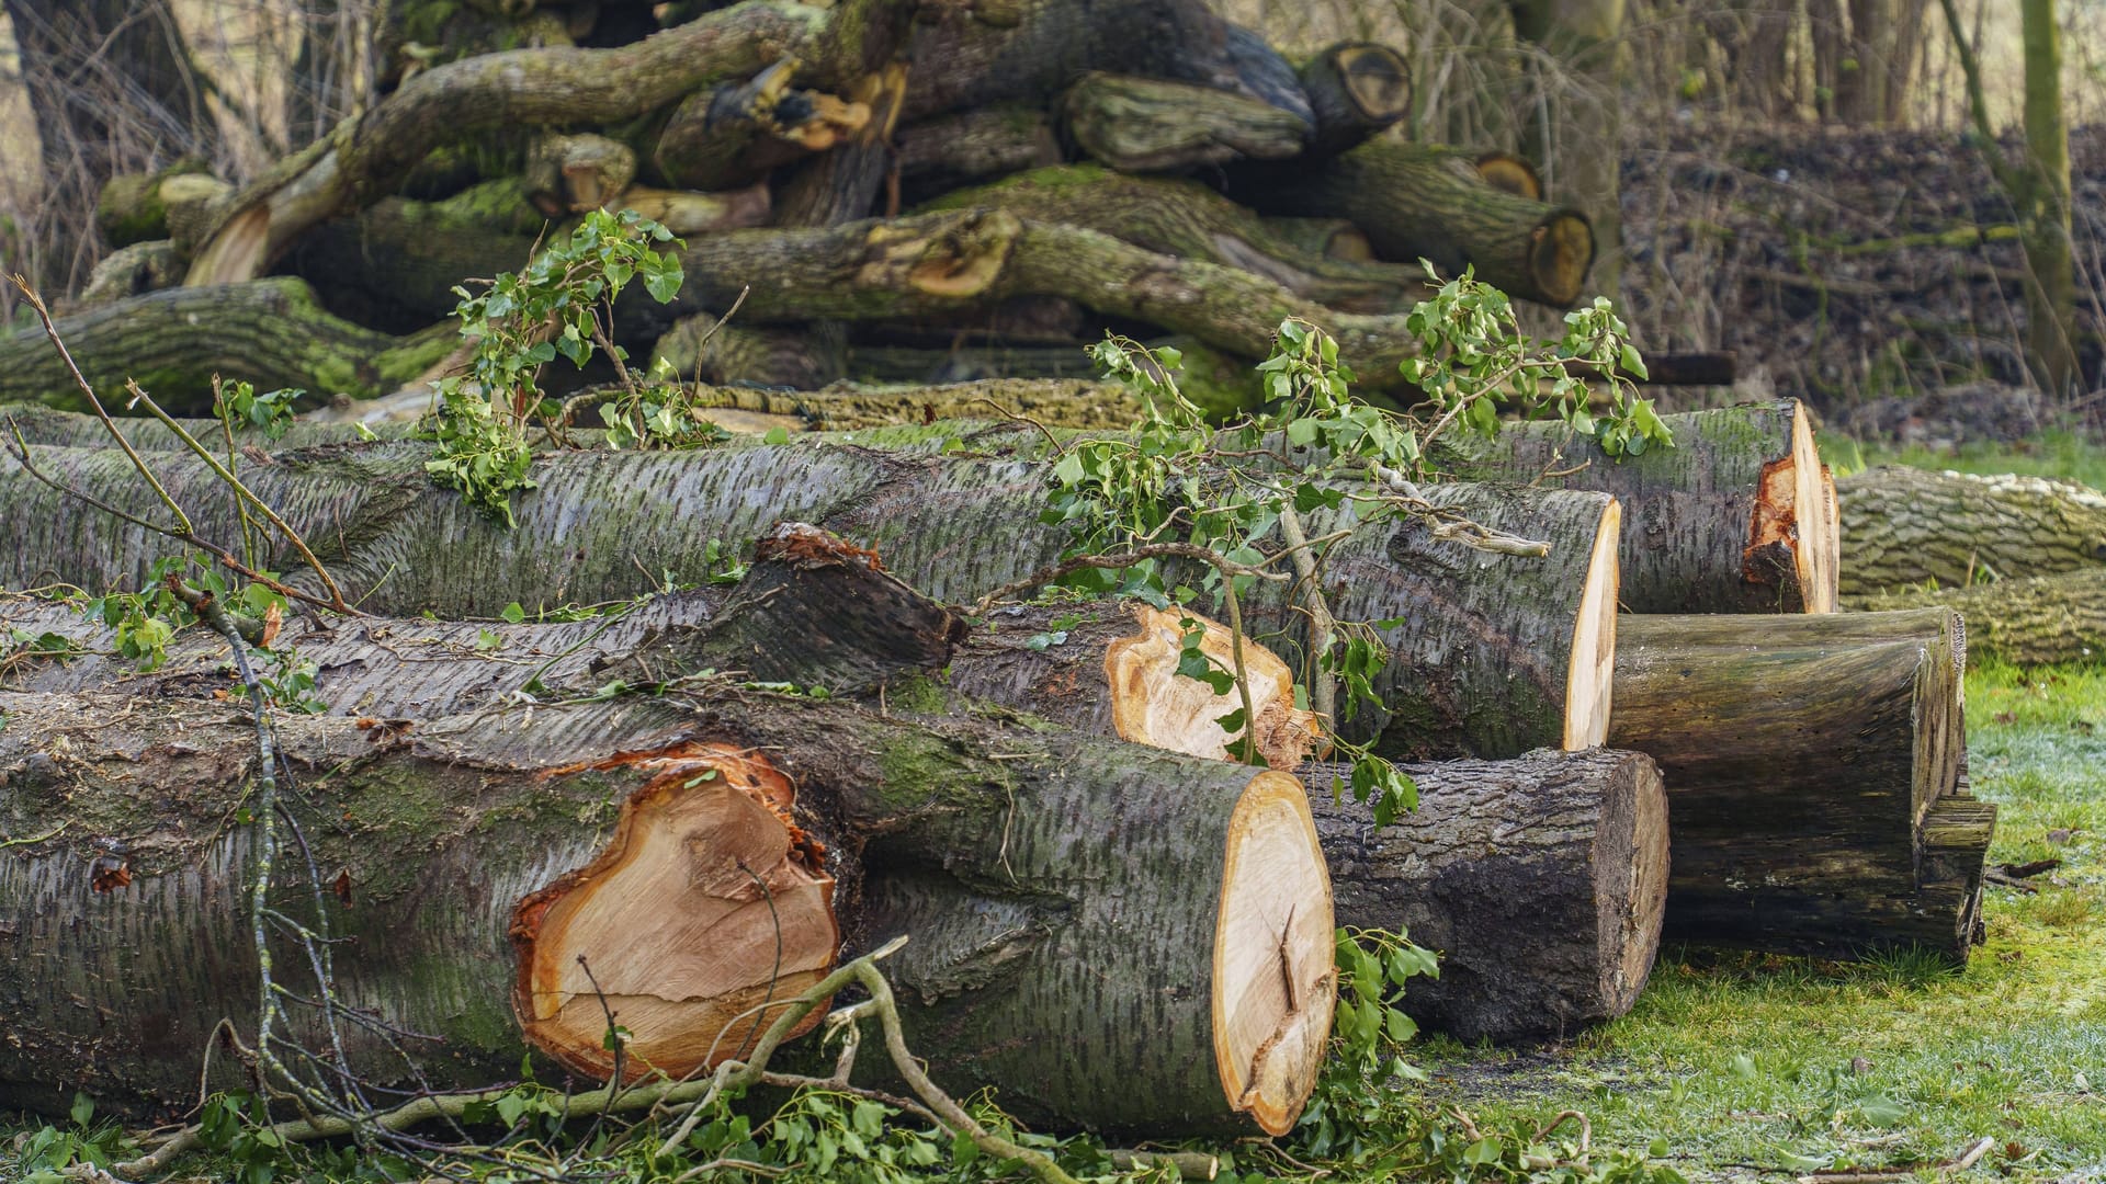
[[[1379,259],[1430,259],[1443,276],[1476,268],[1516,299],[1565,308],[1594,261],[1584,213],[1497,190],[1443,147],[1365,143],[1318,169],[1243,173],[1230,196],[1259,213],[1350,219]]]

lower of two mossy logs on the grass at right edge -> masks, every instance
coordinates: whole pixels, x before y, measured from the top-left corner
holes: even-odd
[[[1849,596],[1851,609],[1935,605],[1967,619],[1967,655],[2011,666],[2095,666],[2106,659],[2106,571],[2064,571],[1961,588],[1895,588]]]

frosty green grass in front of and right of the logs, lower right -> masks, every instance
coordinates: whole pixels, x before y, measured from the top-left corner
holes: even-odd
[[[1965,1178],[2106,1180],[2106,672],[1978,670],[1967,710],[1990,862],[2062,868],[2037,895],[1990,889],[1965,971],[1664,950],[1630,1015],[1563,1049],[1428,1043],[1436,1096],[1584,1110],[1596,1142],[1664,1138],[1695,1180],[1927,1165],[1982,1138]]]

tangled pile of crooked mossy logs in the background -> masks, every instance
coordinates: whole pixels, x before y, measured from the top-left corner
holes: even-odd
[[[246,185],[112,181],[124,251],[61,320],[86,377],[171,407],[213,373],[413,388],[457,346],[455,287],[592,209],[684,238],[680,299],[621,310],[632,356],[800,390],[1066,377],[1116,327],[1217,356],[1234,402],[1293,314],[1396,392],[1422,259],[1569,305],[1594,253],[1525,162],[1384,135],[1396,48],[1289,63],[1203,0],[482,8],[392,6],[383,93]],[[0,341],[0,400],[36,398],[72,404],[63,364]]]

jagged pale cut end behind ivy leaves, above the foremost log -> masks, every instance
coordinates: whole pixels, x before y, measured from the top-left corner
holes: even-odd
[[[1234,638],[1215,621],[1135,605],[1139,632],[1104,651],[1112,689],[1112,727],[1120,739],[1188,756],[1230,761],[1240,733],[1217,721],[1238,706],[1236,693],[1219,695],[1198,678],[1177,674],[1184,621],[1200,630],[1198,647],[1219,670],[1234,670]],[[1251,685],[1257,752],[1272,769],[1293,769],[1323,742],[1314,712],[1295,708],[1295,676],[1270,649],[1243,647]]]

